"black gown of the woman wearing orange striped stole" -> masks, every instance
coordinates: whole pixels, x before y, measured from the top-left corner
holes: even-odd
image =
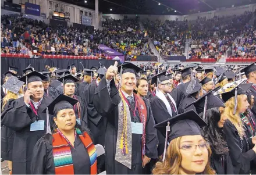
[[[70,151],[74,174],[90,174],[90,157],[79,135],[74,140],[74,148],[70,147]],[[44,136],[35,144],[31,162],[31,174],[55,174],[52,139],[48,140]]]

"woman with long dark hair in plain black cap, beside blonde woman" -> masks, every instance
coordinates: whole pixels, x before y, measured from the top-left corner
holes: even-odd
[[[191,105],[195,106],[198,115],[207,123],[207,126],[202,128],[202,134],[212,150],[211,167],[216,170],[216,174],[234,174],[229,148],[222,130],[227,120],[227,116],[224,115],[225,104],[212,94],[212,91]]]

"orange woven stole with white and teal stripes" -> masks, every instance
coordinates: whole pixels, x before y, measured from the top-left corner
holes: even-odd
[[[90,157],[91,174],[97,174],[97,152],[93,141],[86,132],[83,135],[78,128],[76,128],[76,132]],[[52,141],[52,153],[54,156],[55,174],[74,174],[70,145],[58,132],[52,134],[52,137],[54,138]]]

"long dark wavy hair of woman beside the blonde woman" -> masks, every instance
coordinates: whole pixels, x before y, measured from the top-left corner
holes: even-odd
[[[200,113],[200,117],[203,113]],[[220,159],[223,154],[227,154],[229,149],[225,138],[223,138],[222,128],[218,127],[218,122],[221,120],[221,112],[219,107],[208,109],[205,113],[205,122],[207,126],[202,128],[202,134],[206,141],[209,142],[212,149],[212,156],[215,159]]]

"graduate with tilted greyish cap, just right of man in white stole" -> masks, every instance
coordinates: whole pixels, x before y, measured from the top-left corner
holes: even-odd
[[[193,103],[195,100],[197,100],[198,98],[200,98],[200,96],[203,95],[201,89],[201,85],[195,79],[185,84],[184,94],[186,94],[186,97],[182,100],[182,102],[180,102],[178,113],[183,113],[190,109],[195,110],[194,105],[189,105],[190,103]],[[186,108],[187,106],[189,106],[189,108]]]

